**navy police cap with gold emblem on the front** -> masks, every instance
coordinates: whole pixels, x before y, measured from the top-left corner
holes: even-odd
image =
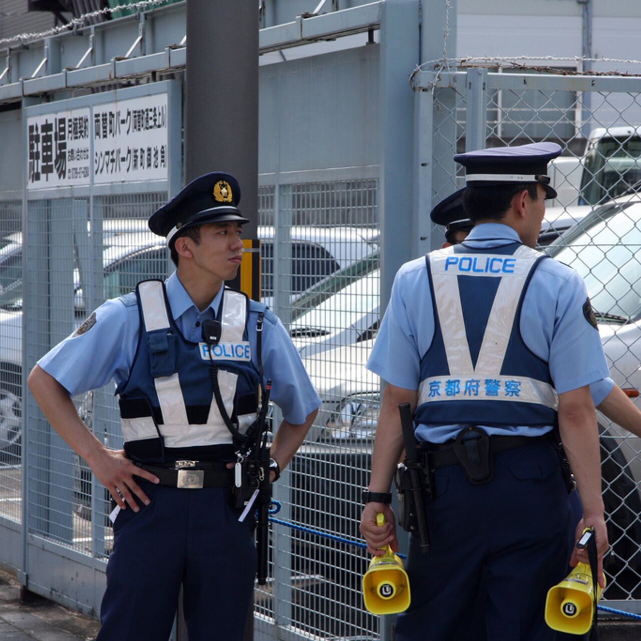
[[[169,203],[154,212],[149,229],[167,237],[167,245],[179,232],[208,222],[249,222],[240,215],[240,185],[231,174],[214,171],[192,180]]]

